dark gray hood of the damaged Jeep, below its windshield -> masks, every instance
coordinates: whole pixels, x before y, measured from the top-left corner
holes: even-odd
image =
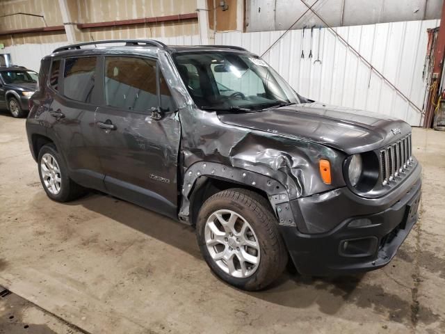
[[[377,150],[411,132],[411,126],[403,120],[319,103],[257,113],[219,113],[218,118],[228,125],[309,140],[346,154]],[[391,129],[400,129],[400,134]]]

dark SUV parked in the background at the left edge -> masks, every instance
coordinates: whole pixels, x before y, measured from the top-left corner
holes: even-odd
[[[38,74],[23,66],[0,66],[0,109],[6,108],[16,118],[29,111],[29,98],[37,90]]]

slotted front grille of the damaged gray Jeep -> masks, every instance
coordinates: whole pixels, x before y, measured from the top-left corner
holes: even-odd
[[[385,186],[390,182],[396,182],[412,164],[411,134],[400,141],[380,150],[380,172],[382,173],[382,184]]]

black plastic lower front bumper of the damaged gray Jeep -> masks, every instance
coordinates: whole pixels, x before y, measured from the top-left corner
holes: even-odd
[[[326,214],[335,210],[344,214],[350,210],[351,216],[330,232],[304,234],[298,228],[284,225],[280,229],[289,254],[303,275],[337,276],[371,271],[384,267],[396,255],[417,221],[420,198],[419,171],[417,180],[403,196],[380,212],[357,215],[357,207],[337,207]],[[321,211],[323,214],[323,206]]]

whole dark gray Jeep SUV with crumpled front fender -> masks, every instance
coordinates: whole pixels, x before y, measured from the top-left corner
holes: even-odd
[[[39,82],[26,131],[49,198],[97,189],[194,225],[236,287],[288,256],[314,276],[383,267],[416,223],[410,125],[307,100],[245,49],[69,45]]]

